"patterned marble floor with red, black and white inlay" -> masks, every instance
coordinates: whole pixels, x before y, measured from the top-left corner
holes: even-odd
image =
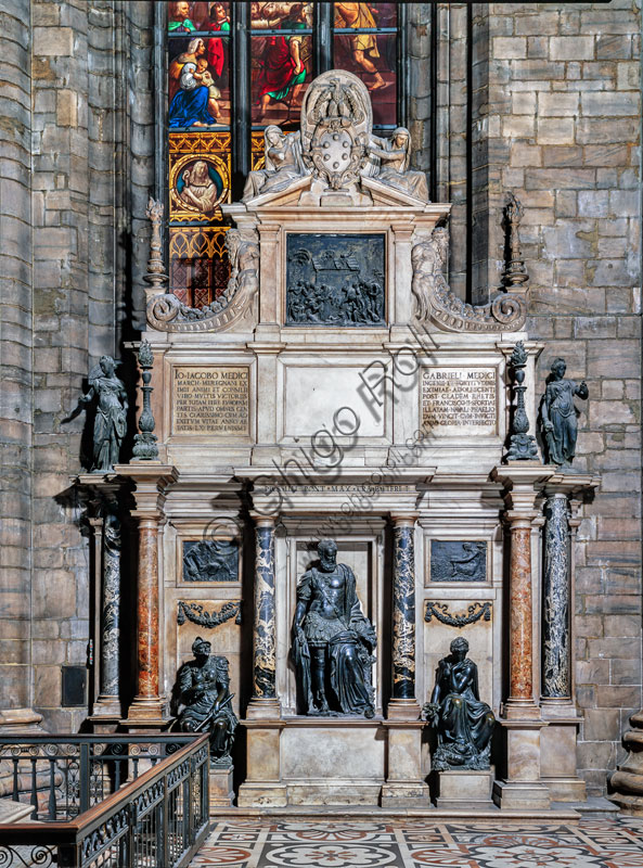
[[[227,819],[191,863],[229,868],[634,868],[643,820],[303,822]]]

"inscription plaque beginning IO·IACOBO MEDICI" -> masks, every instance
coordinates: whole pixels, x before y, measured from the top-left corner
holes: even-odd
[[[247,365],[177,365],[172,369],[172,434],[249,435]]]

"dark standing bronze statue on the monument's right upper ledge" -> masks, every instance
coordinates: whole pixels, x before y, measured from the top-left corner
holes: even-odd
[[[574,396],[587,400],[590,393],[584,381],[578,385],[565,380],[565,359],[554,359],[540,405],[540,424],[546,444],[548,461],[568,468],[576,454],[579,411]]]

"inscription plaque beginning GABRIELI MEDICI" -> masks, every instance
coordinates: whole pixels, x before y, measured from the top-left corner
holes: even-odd
[[[437,436],[496,434],[496,368],[423,368],[422,421]]]

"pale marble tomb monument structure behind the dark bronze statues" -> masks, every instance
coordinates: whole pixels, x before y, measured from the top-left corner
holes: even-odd
[[[536,421],[542,345],[520,331],[525,289],[479,307],[449,291],[450,205],[427,201],[425,177],[409,167],[408,133],[373,136],[355,76],[320,76],[300,130],[271,130],[266,167],[250,173],[241,202],[223,206],[233,228],[221,298],[192,310],[149,290],[159,461],[176,480],[159,519],[163,689],[196,635],[229,656],[245,728],[239,805],[426,807],[421,706],[450,641],[464,636],[480,699],[507,732],[497,801],[542,808],[538,516],[554,470],[501,465],[518,341],[529,434]],[[518,599],[507,508],[511,545],[522,542],[528,564],[519,646],[506,618],[507,595]],[[207,565],[213,552],[202,546],[187,573],[187,551],[213,533],[223,572]],[[297,582],[311,545],[329,537],[377,636],[372,718],[297,705]],[[241,623],[210,623],[235,603]],[[507,695],[510,658],[515,672],[519,664],[516,697]],[[560,717],[574,733],[566,702]],[[557,797],[571,793],[567,783]]]

